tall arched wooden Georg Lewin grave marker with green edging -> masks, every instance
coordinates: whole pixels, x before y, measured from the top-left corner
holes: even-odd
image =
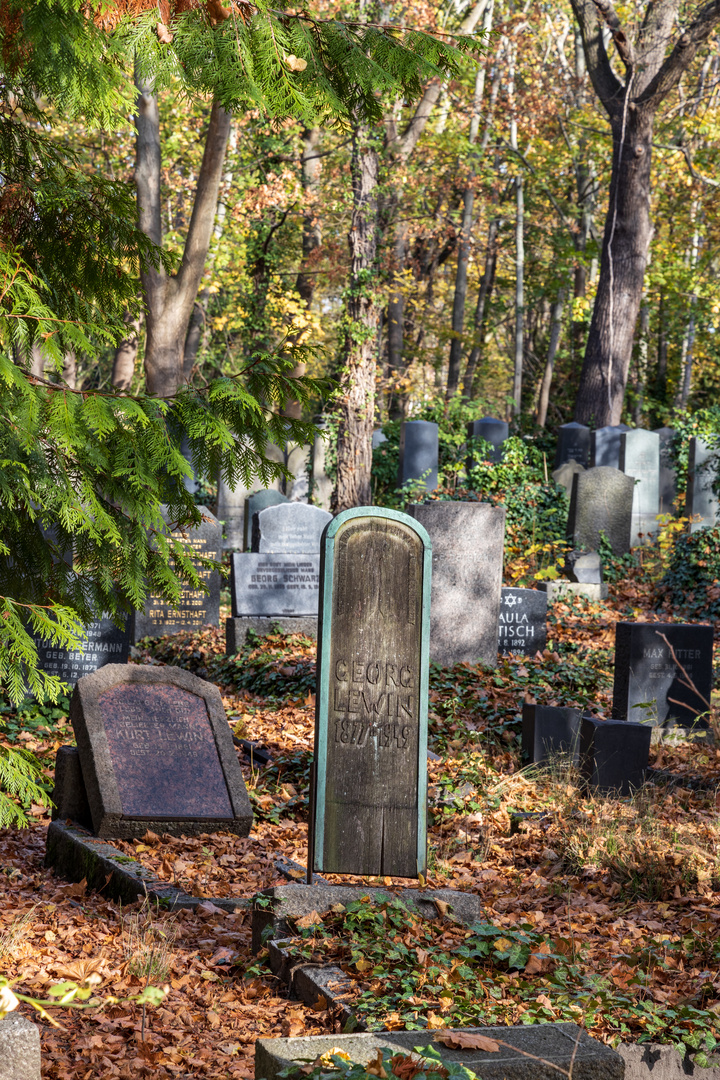
[[[309,866],[426,873],[431,542],[376,507],[345,510],[322,545]]]

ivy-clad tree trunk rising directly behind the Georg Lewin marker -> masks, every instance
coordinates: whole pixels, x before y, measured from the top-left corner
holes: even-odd
[[[332,511],[368,505],[371,499],[372,427],[377,366],[378,152],[366,125],[353,132],[353,213],[348,243],[350,282],[340,373],[338,465]]]

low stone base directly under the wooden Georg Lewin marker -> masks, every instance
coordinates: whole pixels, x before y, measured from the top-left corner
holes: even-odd
[[[348,904],[363,896],[371,896],[378,903],[389,900],[399,900],[420,913],[425,919],[438,918],[438,907],[435,903],[449,905],[449,915],[460,922],[472,924],[480,917],[480,902],[475,893],[457,892],[454,889],[390,889],[373,886],[344,885],[281,885],[263,889],[262,896],[270,897],[267,907],[255,907],[253,910],[253,948],[255,951],[262,945],[262,935],[267,927],[272,927],[274,937],[289,937],[293,933],[291,923],[311,912],[328,912],[334,904]]]

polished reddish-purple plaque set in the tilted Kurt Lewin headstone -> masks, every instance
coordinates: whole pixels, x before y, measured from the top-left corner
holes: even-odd
[[[233,816],[202,698],[124,684],[99,698],[125,818]]]

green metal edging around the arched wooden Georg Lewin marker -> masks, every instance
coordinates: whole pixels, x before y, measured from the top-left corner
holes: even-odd
[[[310,870],[323,869],[325,842],[325,784],[327,780],[327,719],[329,716],[330,677],[324,657],[330,654],[332,622],[332,573],[335,569],[335,537],[341,525],[355,517],[382,517],[402,522],[416,532],[423,543],[422,629],[420,634],[420,716],[418,718],[418,874],[427,867],[427,691],[430,676],[430,593],[433,572],[433,543],[427,530],[413,517],[383,507],[353,507],[328,522],[320,545],[320,626],[317,634],[317,685],[315,690],[315,777],[312,807],[312,852],[308,852]],[[424,677],[422,673],[424,672]],[[321,716],[325,725],[321,725]]]

